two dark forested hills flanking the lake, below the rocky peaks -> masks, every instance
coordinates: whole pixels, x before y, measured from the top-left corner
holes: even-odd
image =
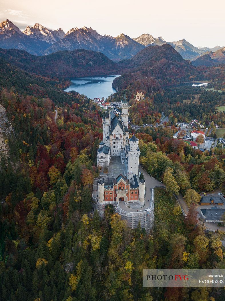
[[[202,73],[168,44],[143,48],[128,60],[114,62],[101,52],[75,49],[35,56],[18,49],[0,49],[0,59],[48,80],[122,74],[113,81],[117,91],[160,91],[162,87],[202,79]],[[48,79],[47,79],[48,78]]]

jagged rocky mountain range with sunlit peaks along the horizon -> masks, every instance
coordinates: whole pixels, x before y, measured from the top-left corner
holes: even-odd
[[[36,23],[32,27],[27,26],[22,32],[8,19],[0,23],[0,48],[25,50],[34,55],[48,55],[60,50],[86,49],[99,51],[108,58],[119,61],[133,57],[146,46],[164,44],[172,45],[184,59],[190,60],[208,51],[214,52],[222,48],[195,47],[185,39],[166,42],[161,36],[154,38],[150,34],[142,34],[134,39],[123,33],[116,37],[102,36],[85,26],[74,27],[64,33],[61,28],[52,30]]]

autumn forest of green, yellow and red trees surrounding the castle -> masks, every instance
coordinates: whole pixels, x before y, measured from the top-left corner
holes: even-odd
[[[3,59],[0,68],[0,104],[13,129],[0,162],[1,300],[223,301],[224,288],[148,288],[142,277],[143,268],[224,268],[222,234],[196,225],[191,199],[224,187],[224,149],[202,153],[174,141],[172,113],[171,126],[138,130],[141,164],[168,186],[156,191],[154,227],[131,230],[110,205],[101,220],[91,191],[102,112]],[[160,103],[160,94],[146,103],[154,121],[155,97]],[[186,218],[173,192],[190,206]]]

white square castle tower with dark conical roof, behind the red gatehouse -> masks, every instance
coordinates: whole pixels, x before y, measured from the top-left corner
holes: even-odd
[[[139,156],[140,150],[138,148],[139,139],[133,135],[129,139],[128,150],[128,179],[130,183],[133,183],[133,175],[139,176]]]

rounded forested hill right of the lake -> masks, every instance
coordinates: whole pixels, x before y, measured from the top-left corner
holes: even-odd
[[[130,60],[121,61],[119,65],[127,73],[114,79],[113,87],[116,89],[140,89],[151,93],[159,87],[201,78],[201,74],[190,61],[185,61],[167,44],[146,47]]]

